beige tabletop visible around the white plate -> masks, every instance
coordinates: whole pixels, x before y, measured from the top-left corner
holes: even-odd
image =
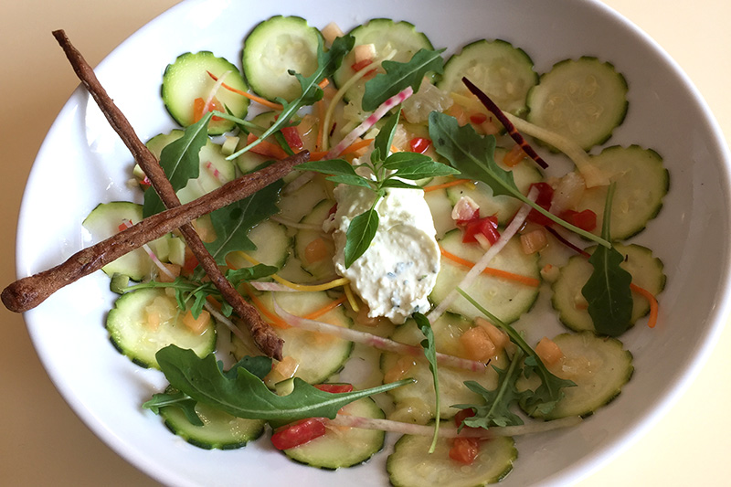
[[[0,0],[0,285],[15,279],[23,188],[45,133],[78,85],[51,30],[96,65],[176,0]],[[709,103],[731,141],[731,3],[605,0],[657,40]],[[156,485],[97,439],[51,384],[20,315],[0,311],[0,485]],[[581,486],[729,485],[731,327],[669,413]]]

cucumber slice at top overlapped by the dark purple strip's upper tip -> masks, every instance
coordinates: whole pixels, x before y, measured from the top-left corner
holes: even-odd
[[[444,65],[444,75],[437,86],[471,97],[462,78],[470,79],[502,111],[515,115],[526,110],[525,97],[538,82],[530,56],[501,39],[482,39],[462,48]]]

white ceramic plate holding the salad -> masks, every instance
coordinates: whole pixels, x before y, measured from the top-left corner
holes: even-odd
[[[252,16],[255,14],[256,16]],[[635,374],[620,398],[576,429],[518,439],[504,485],[566,484],[587,475],[648,429],[690,382],[720,332],[728,307],[729,157],[697,91],[649,37],[586,0],[280,0],[258,4],[192,0],[130,37],[97,69],[101,83],[146,140],[174,128],[159,99],[165,66],[185,51],[212,50],[239,63],[243,37],[273,15],[344,29],[371,17],[408,20],[435,47],[454,52],[503,38],[539,72],[582,55],[611,61],[630,84],[627,120],[610,144],[638,143],[664,156],[671,191],[660,217],[633,241],[665,263],[660,324],[623,336]],[[17,242],[20,276],[45,270],[88,242],[82,219],[101,201],[129,199],[132,158],[88,94],[77,90],[37,156]],[[243,450],[199,450],[140,405],[164,386],[156,371],[117,354],[103,327],[112,295],[100,273],[59,291],[26,322],[48,374],[79,416],[112,449],[155,479],[175,485],[385,485],[387,452],[367,465],[318,471],[287,461],[267,441]]]

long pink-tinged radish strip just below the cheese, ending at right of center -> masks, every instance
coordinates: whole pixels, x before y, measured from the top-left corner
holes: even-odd
[[[420,346],[401,344],[399,342],[395,342],[393,340],[383,338],[375,334],[358,332],[357,330],[343,328],[341,326],[335,326],[334,324],[308,320],[300,316],[295,316],[290,312],[286,312],[281,308],[276,299],[274,299],[273,301],[274,312],[276,312],[282,320],[296,328],[302,328],[302,330],[307,330],[308,332],[332,334],[334,336],[337,336],[338,338],[342,338],[343,340],[355,342],[356,344],[365,344],[377,348],[378,350],[384,350],[386,352],[394,352],[396,354],[411,355],[416,357],[424,356],[424,349]],[[472,372],[479,372],[485,369],[485,364],[483,364],[482,362],[467,360],[466,358],[460,358],[453,355],[444,355],[438,353],[437,361],[440,363],[440,365],[462,368],[466,370],[471,370]]]

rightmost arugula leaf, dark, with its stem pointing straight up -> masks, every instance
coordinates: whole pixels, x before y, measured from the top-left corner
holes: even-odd
[[[601,236],[607,239],[610,238],[609,220],[615,185],[615,183],[609,185],[607,202],[604,206]],[[588,259],[594,270],[581,288],[581,294],[587,299],[588,313],[597,333],[619,336],[631,326],[632,276],[630,272],[620,267],[623,260],[624,257],[619,250],[601,246],[597,247]]]

